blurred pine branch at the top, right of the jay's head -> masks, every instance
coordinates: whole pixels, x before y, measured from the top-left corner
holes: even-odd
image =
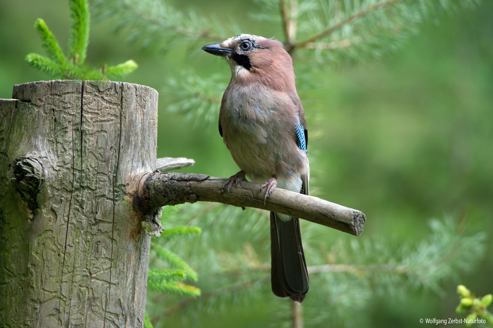
[[[479,0],[257,0],[270,8],[252,17],[279,21],[284,47],[319,62],[381,57],[395,51],[419,25],[443,12],[473,8]],[[276,7],[277,4],[277,8]],[[309,51],[305,51],[305,50]],[[315,52],[313,51],[315,50]]]

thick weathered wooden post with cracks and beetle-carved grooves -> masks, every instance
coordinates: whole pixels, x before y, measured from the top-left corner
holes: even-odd
[[[150,237],[133,195],[155,169],[158,93],[56,80],[13,98],[0,100],[0,326],[143,327]]]

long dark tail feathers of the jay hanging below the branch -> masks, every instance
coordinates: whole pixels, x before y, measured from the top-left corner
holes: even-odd
[[[283,222],[271,212],[271,257],[272,292],[301,303],[308,292],[308,272],[298,218]]]

